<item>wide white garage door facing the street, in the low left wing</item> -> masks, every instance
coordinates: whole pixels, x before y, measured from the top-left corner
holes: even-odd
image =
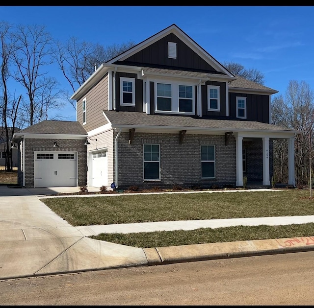
[[[34,187],[77,186],[76,152],[34,152]]]

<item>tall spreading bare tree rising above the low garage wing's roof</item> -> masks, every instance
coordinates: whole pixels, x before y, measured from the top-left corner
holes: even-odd
[[[44,25],[18,25],[13,39],[14,78],[26,89],[23,116],[28,125],[33,125],[48,118],[49,110],[64,106],[56,79],[45,71],[53,63],[53,41]]]

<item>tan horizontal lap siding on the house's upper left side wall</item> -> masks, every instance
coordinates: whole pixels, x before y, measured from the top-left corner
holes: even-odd
[[[83,125],[82,103],[86,98],[86,124]],[[88,132],[107,123],[103,110],[108,109],[108,75],[78,100],[78,122]]]

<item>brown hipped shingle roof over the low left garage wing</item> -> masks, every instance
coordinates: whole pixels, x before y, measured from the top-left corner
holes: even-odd
[[[22,129],[18,134],[87,135],[77,121],[45,120]]]

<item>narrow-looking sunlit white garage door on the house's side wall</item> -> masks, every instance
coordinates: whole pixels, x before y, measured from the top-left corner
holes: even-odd
[[[107,151],[92,154],[92,186],[102,187],[108,185]]]

